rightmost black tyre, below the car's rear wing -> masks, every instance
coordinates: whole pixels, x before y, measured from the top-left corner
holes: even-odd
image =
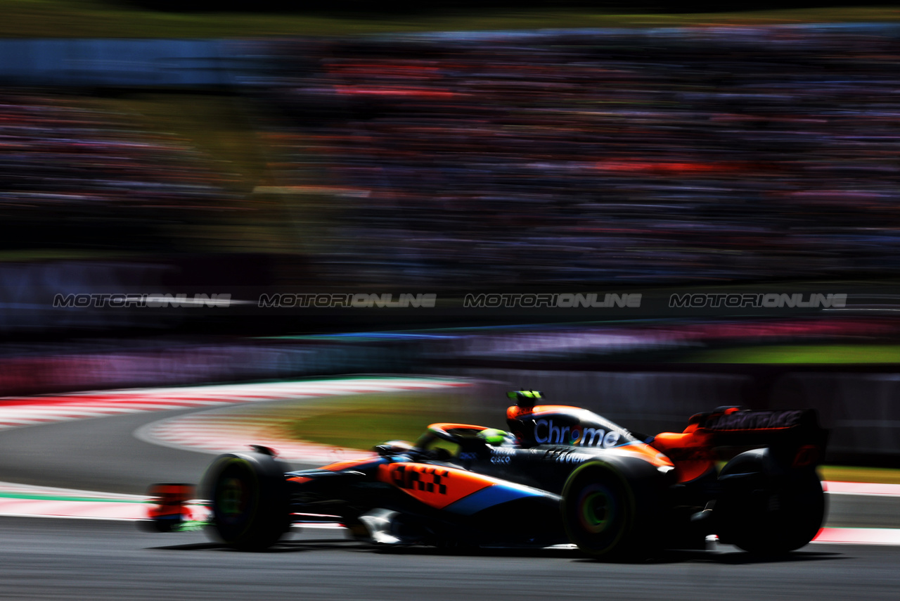
[[[779,469],[768,450],[747,451],[719,473],[719,540],[757,554],[782,554],[815,538],[825,496],[815,469]]]

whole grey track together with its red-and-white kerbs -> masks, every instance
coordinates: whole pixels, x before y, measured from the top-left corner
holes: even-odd
[[[202,532],[133,524],[147,515],[149,484],[196,483],[222,451],[265,444],[297,466],[365,453],[267,437],[253,406],[473,385],[360,377],[0,399],[0,598],[895,599],[900,590],[900,485],[826,483],[826,527],[778,560],[716,542],[640,564],[571,549],[384,550],[334,527],[295,528],[270,551],[239,553]]]

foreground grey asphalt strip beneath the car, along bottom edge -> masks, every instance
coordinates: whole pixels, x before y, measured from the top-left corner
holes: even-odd
[[[810,545],[787,560],[725,548],[650,563],[573,551],[376,551],[314,531],[241,553],[203,533],[134,524],[0,518],[0,597],[14,599],[896,599],[900,548]],[[330,534],[332,537],[336,533]]]

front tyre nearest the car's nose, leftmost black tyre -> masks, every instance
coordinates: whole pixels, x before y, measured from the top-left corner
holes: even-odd
[[[262,551],[290,526],[284,468],[273,457],[257,452],[220,455],[205,480],[213,533],[229,547]]]

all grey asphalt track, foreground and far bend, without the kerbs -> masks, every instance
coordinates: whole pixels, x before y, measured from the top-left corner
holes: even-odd
[[[197,482],[211,455],[139,441],[139,426],[189,413],[129,414],[0,433],[0,480],[143,493]],[[900,527],[896,499],[832,496],[830,525]],[[330,540],[325,540],[330,539]],[[900,547],[812,544],[757,559],[724,545],[643,563],[575,551],[375,550],[341,531],[293,534],[261,553],[205,533],[135,524],[0,518],[0,598],[11,599],[897,599]]]

